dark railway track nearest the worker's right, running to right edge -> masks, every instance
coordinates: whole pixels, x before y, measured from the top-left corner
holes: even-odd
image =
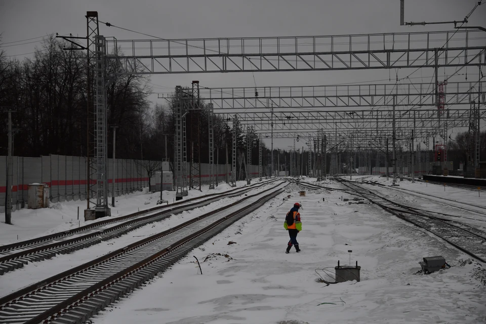
[[[354,190],[357,194],[378,205],[385,211],[398,218],[412,223],[448,242],[450,245],[468,254],[469,256],[486,263],[486,232],[450,219],[444,219],[420,212],[414,208],[396,203],[382,197],[377,193],[359,186],[354,182],[339,179],[344,186]]]

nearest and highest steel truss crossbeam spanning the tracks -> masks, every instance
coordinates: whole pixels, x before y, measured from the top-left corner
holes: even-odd
[[[113,39],[128,74],[312,71],[481,65],[479,30],[335,36]],[[486,58],[486,56],[484,57]],[[483,60],[482,62],[484,62]],[[484,65],[484,63],[482,63]]]

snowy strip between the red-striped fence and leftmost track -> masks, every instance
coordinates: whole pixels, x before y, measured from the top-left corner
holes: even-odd
[[[255,182],[252,182],[255,183]],[[237,187],[244,187],[246,181],[237,181]],[[220,183],[215,190],[209,190],[209,186],[203,186],[202,191],[190,190],[189,198],[214,192],[223,192],[233,189],[226,183]],[[175,201],[175,191],[163,191],[163,199],[169,203]],[[148,188],[131,194],[115,198],[115,207],[111,207],[111,217],[125,216],[139,210],[155,207],[160,199],[160,192],[150,193]],[[108,199],[111,204],[111,198]],[[84,210],[87,207],[86,200],[66,201],[52,204],[44,209],[21,209],[12,213],[12,224],[5,224],[5,210],[0,213],[0,245],[23,241],[30,238],[44,236],[71,228],[87,225],[92,222],[104,220],[100,218],[94,221],[84,221]],[[79,208],[79,220],[77,210]]]

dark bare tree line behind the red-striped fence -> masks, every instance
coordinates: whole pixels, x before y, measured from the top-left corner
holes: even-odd
[[[88,80],[86,52],[64,50],[69,47],[51,35],[43,39],[32,57],[16,60],[7,56],[0,38],[0,106],[15,110],[12,113],[14,155],[87,156],[93,149],[92,143],[88,147],[88,132],[93,131],[94,124],[93,73]],[[119,66],[109,66],[107,72],[119,72],[119,69]],[[109,157],[113,148],[111,127],[116,126],[116,157],[173,160],[175,101],[153,106],[149,101],[152,93],[149,82],[147,76],[118,74],[107,88]],[[196,162],[208,163],[209,113],[204,99],[199,99],[195,106],[200,110],[191,110],[186,118],[188,156]],[[7,113],[2,113],[0,123],[0,154],[7,155]],[[240,153],[246,151],[246,132],[240,124],[237,127]],[[215,163],[226,162],[226,146],[231,163],[232,130],[228,120],[214,115],[213,130],[214,157],[219,158]],[[254,134],[252,144],[251,163],[258,164],[258,139]]]

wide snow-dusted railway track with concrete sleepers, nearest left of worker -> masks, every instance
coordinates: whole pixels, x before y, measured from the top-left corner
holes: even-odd
[[[6,324],[81,323],[284,191],[279,183],[233,204],[0,298]]]

